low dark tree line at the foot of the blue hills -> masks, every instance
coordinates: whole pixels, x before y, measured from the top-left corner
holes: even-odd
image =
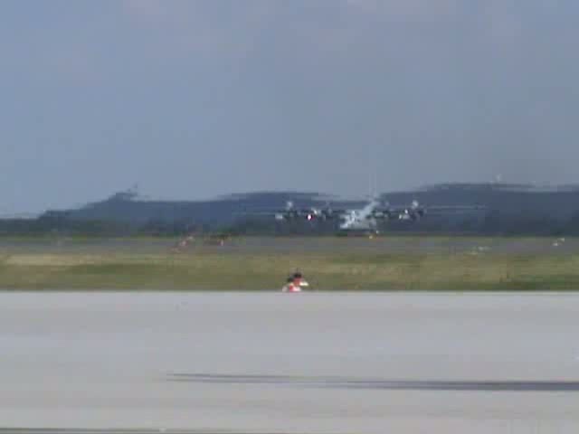
[[[478,217],[448,219],[427,216],[418,222],[385,222],[380,229],[386,233],[573,236],[579,235],[579,212],[562,219],[547,214],[489,210]],[[75,220],[62,215],[0,220],[0,235],[3,236],[182,236],[215,231],[245,235],[328,235],[337,233],[337,222],[273,222],[267,219],[245,219],[228,224],[186,219],[118,222]]]

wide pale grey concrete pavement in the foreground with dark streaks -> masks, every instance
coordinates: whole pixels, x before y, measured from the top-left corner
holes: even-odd
[[[2,293],[0,434],[576,433],[577,330],[566,294]]]

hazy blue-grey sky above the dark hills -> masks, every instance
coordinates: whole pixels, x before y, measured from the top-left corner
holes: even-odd
[[[0,2],[0,212],[579,182],[575,0]]]

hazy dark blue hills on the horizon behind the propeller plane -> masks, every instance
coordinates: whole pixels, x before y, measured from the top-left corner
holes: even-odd
[[[428,215],[421,222],[391,222],[391,231],[474,231],[508,233],[574,232],[579,227],[579,187],[539,188],[525,184],[437,184],[408,192],[383,193],[384,202],[425,206],[476,204],[485,212]],[[346,201],[322,193],[235,193],[209,201],[151,201],[134,192],[121,192],[79,209],[48,211],[41,219],[59,222],[113,222],[143,227],[178,225],[219,229],[250,222],[273,224],[252,212],[283,209],[292,201],[298,207],[355,208],[365,201]],[[258,225],[259,226],[259,225]]]

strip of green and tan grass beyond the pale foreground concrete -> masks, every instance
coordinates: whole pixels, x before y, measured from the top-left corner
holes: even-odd
[[[303,250],[295,241],[291,249],[280,249],[289,242],[284,240],[270,240],[263,249],[259,242],[252,247],[238,242],[235,249],[199,244],[179,251],[169,248],[173,241],[152,247],[148,241],[139,241],[130,249],[84,241],[64,247],[32,241],[24,247],[0,244],[0,288],[271,290],[281,288],[289,272],[297,268],[319,290],[579,288],[579,248],[569,254],[548,249],[476,252],[451,248],[459,241],[474,242],[467,239],[396,240],[408,249],[388,247],[394,241],[384,248],[371,244],[365,248],[362,241],[333,239],[320,239],[318,249]],[[425,242],[440,248],[426,250]],[[498,242],[476,240],[485,246]]]

